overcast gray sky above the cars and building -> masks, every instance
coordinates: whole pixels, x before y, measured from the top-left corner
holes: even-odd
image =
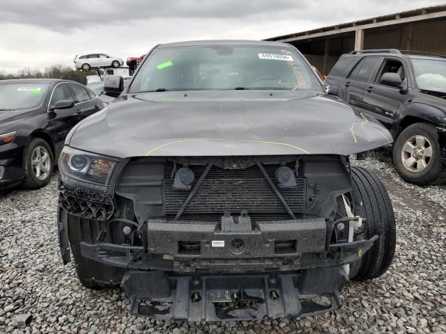
[[[140,56],[158,43],[261,40],[445,0],[11,0],[0,6],[0,70],[73,65],[76,54]]]

